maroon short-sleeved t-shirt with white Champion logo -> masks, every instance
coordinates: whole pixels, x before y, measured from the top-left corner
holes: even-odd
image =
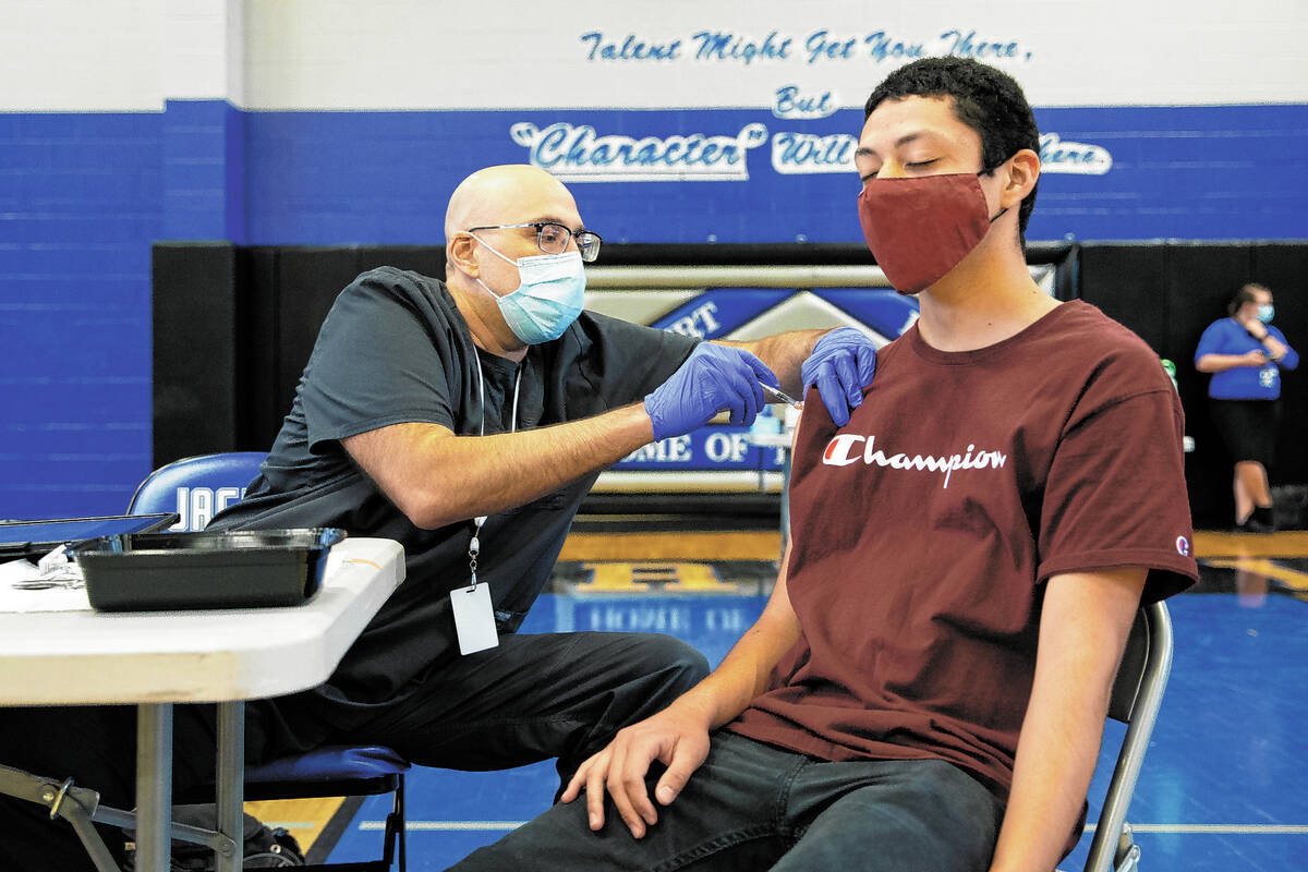
[[[1158,356],[1070,302],[1002,343],[883,348],[837,429],[811,395],[791,478],[802,629],[730,729],[823,760],[943,758],[1007,800],[1044,582],[1188,587],[1182,416]]]

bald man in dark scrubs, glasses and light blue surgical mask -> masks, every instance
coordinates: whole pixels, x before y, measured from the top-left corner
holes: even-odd
[[[849,328],[698,343],[582,311],[582,264],[600,239],[539,169],[470,175],[445,237],[445,281],[386,267],[341,292],[259,477],[209,524],[341,527],[405,552],[404,583],[324,685],[247,706],[251,762],[375,743],[468,770],[557,757],[566,783],[619,728],[708,672],[666,635],[515,634],[599,472],[721,411],[749,424],[763,382],[790,394],[815,383],[848,420],[871,380],[872,345]],[[455,599],[472,605],[455,613]],[[94,743],[31,749],[25,767],[76,773],[107,804],[131,807],[132,723],[119,715],[92,710],[93,726],[76,723]],[[178,746],[196,749],[183,750],[179,780],[209,777],[212,752],[200,749],[212,749],[212,713],[179,707],[175,722]],[[0,710],[0,740],[7,723],[20,735],[73,722]],[[92,868],[67,825],[29,809],[0,858]]]

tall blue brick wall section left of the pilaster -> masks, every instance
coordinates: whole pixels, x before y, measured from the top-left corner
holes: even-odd
[[[0,518],[120,512],[150,459],[160,114],[0,114]]]

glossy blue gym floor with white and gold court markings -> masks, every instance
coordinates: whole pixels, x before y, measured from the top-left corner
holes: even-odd
[[[723,584],[725,591],[749,584]],[[525,631],[650,630],[717,663],[763,611],[757,592],[549,594]],[[1176,658],[1127,820],[1143,869],[1308,869],[1308,560],[1203,561],[1168,603]],[[1091,787],[1091,825],[1122,727],[1110,723]],[[1109,754],[1109,750],[1112,756]],[[504,773],[417,769],[408,782],[408,868],[443,869],[545,808],[543,762]],[[330,858],[377,856],[388,797],[370,797]],[[1080,869],[1090,834],[1059,864]]]

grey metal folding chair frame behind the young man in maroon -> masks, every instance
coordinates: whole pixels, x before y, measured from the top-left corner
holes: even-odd
[[[1171,672],[1172,618],[1163,603],[1151,603],[1142,607],[1135,616],[1122,664],[1117,668],[1113,696],[1108,703],[1108,716],[1126,724],[1126,736],[1122,739],[1117,766],[1108,783],[1104,807],[1099,812],[1095,838],[1086,859],[1086,872],[1113,869],[1120,850],[1138,855],[1139,848],[1129,838],[1125,845],[1120,846],[1118,842]]]

